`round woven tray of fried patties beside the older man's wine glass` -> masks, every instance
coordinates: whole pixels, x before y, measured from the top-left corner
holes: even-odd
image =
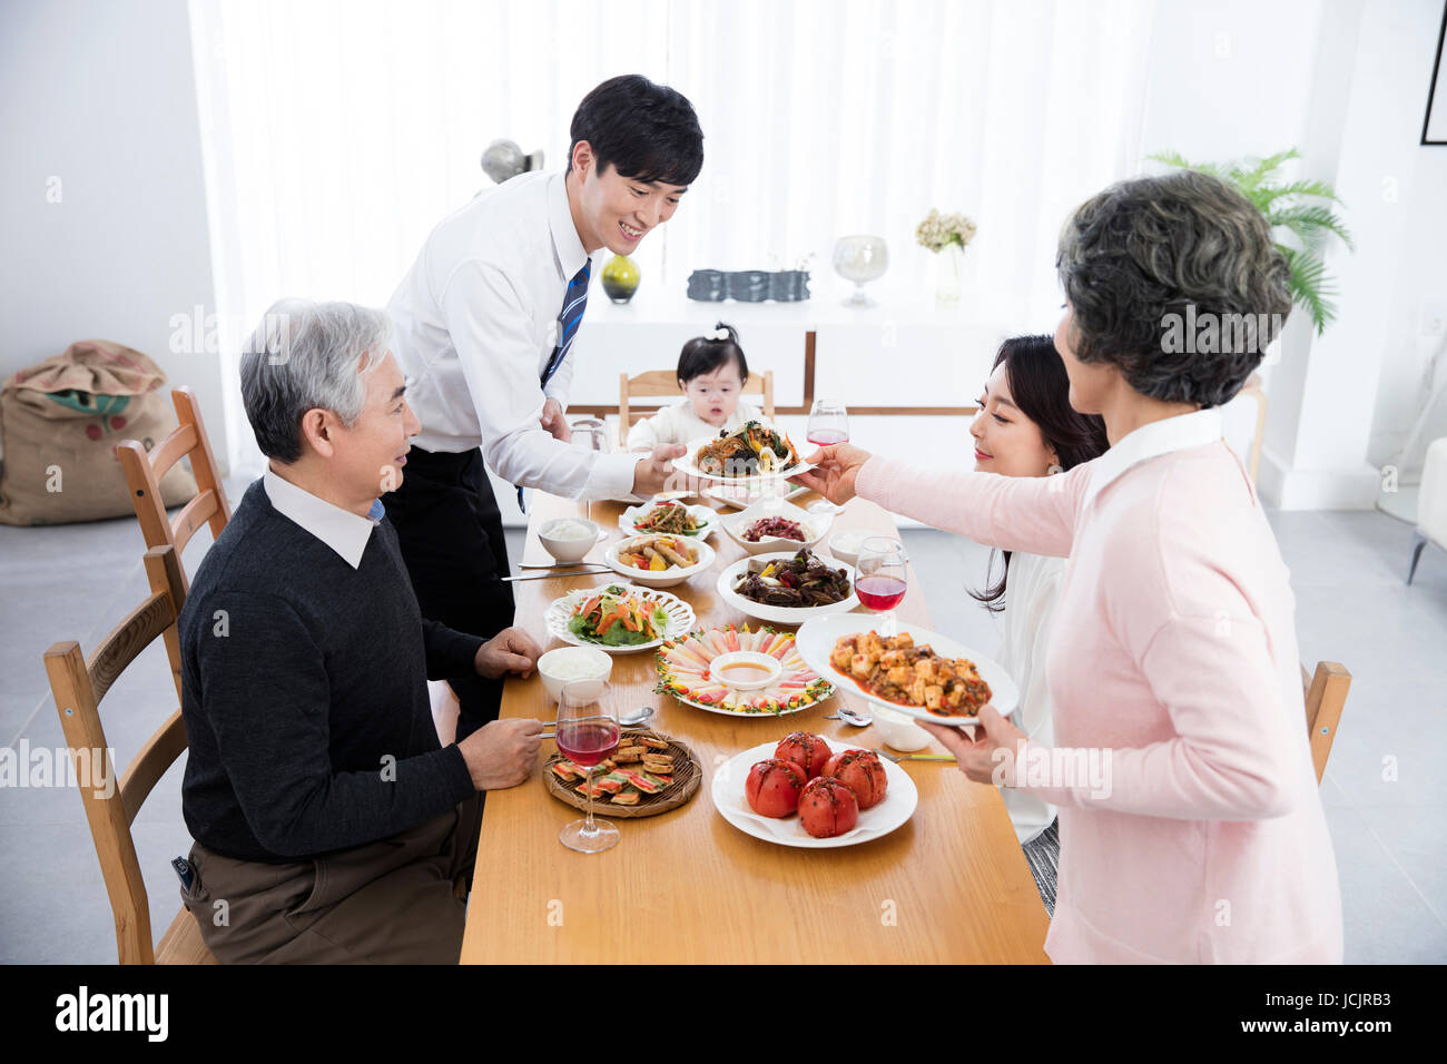
[[[587,769],[561,751],[543,766],[548,793],[587,808]],[[614,756],[593,766],[593,802],[605,816],[657,816],[699,790],[703,767],[687,746],[651,728],[624,728]]]

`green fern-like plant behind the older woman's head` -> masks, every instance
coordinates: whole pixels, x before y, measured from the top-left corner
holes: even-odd
[[[1291,268],[1292,303],[1311,314],[1317,336],[1325,332],[1327,324],[1337,316],[1334,303],[1337,290],[1321,258],[1323,249],[1333,233],[1341,237],[1347,249],[1354,250],[1354,246],[1351,235],[1347,233],[1347,227],[1333,210],[1333,204],[1341,204],[1341,198],[1330,184],[1325,181],[1282,181],[1276,175],[1283,162],[1301,158],[1295,148],[1276,152],[1265,159],[1247,158],[1242,162],[1227,164],[1187,162],[1176,152],[1159,152],[1146,158],[1168,166],[1181,166],[1221,178],[1255,203],[1273,230],[1291,233],[1299,246],[1294,248],[1281,240],[1276,242],[1276,246],[1281,248],[1282,255],[1286,256],[1286,265]],[[1325,203],[1314,203],[1314,200]]]

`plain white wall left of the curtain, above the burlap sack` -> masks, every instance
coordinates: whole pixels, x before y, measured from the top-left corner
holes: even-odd
[[[214,305],[185,0],[4,0],[0,152],[0,375],[116,340],[224,439],[216,355],[169,350]]]

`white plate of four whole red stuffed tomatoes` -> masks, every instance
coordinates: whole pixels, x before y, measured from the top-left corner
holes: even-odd
[[[805,850],[870,843],[919,805],[915,780],[893,761],[806,731],[735,754],[710,793],[745,835]]]

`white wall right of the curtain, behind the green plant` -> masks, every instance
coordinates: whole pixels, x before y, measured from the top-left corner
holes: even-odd
[[[1294,313],[1262,491],[1285,508],[1369,507],[1411,427],[1420,323],[1447,298],[1447,148],[1418,145],[1440,0],[1215,0],[1156,7],[1143,143],[1191,159],[1295,145],[1294,175],[1336,182],[1357,249],[1327,255],[1340,318]]]

